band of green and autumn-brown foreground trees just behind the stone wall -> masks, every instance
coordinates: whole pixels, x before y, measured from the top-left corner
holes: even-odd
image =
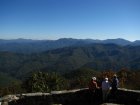
[[[132,72],[125,68],[118,72],[112,70],[97,72],[91,69],[79,69],[65,74],[56,72],[33,72],[22,82],[13,82],[8,87],[0,88],[0,95],[16,94],[23,92],[51,92],[54,90],[69,90],[87,88],[92,76],[97,77],[98,85],[105,76],[111,79],[117,74],[119,87],[140,90],[140,72]]]

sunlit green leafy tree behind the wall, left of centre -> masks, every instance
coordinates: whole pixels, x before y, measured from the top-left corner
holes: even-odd
[[[50,92],[67,88],[67,81],[57,73],[36,72],[24,83],[27,92]]]

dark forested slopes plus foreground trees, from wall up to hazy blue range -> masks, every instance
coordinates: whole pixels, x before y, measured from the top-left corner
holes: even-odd
[[[106,71],[109,76],[119,75],[121,87],[139,89],[139,52],[140,46],[97,43],[30,54],[1,51],[0,74],[3,77],[0,89],[2,94],[7,94],[81,88],[87,86],[93,75],[101,80]]]

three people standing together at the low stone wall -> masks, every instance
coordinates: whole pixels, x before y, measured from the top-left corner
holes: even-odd
[[[117,78],[117,75],[115,74],[113,76],[113,79],[111,81],[108,80],[107,77],[103,79],[101,82],[101,86],[99,86],[96,82],[96,77],[92,77],[90,83],[89,83],[89,90],[93,94],[98,94],[97,91],[99,89],[102,90],[102,100],[103,102],[106,102],[108,100],[108,96],[111,95],[111,97],[116,97],[116,92],[118,89],[119,80]]]

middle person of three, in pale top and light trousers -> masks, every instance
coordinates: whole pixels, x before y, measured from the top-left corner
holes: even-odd
[[[108,95],[110,92],[110,83],[108,78],[106,77],[102,82],[102,94],[103,94],[103,101],[106,102],[108,100]]]

